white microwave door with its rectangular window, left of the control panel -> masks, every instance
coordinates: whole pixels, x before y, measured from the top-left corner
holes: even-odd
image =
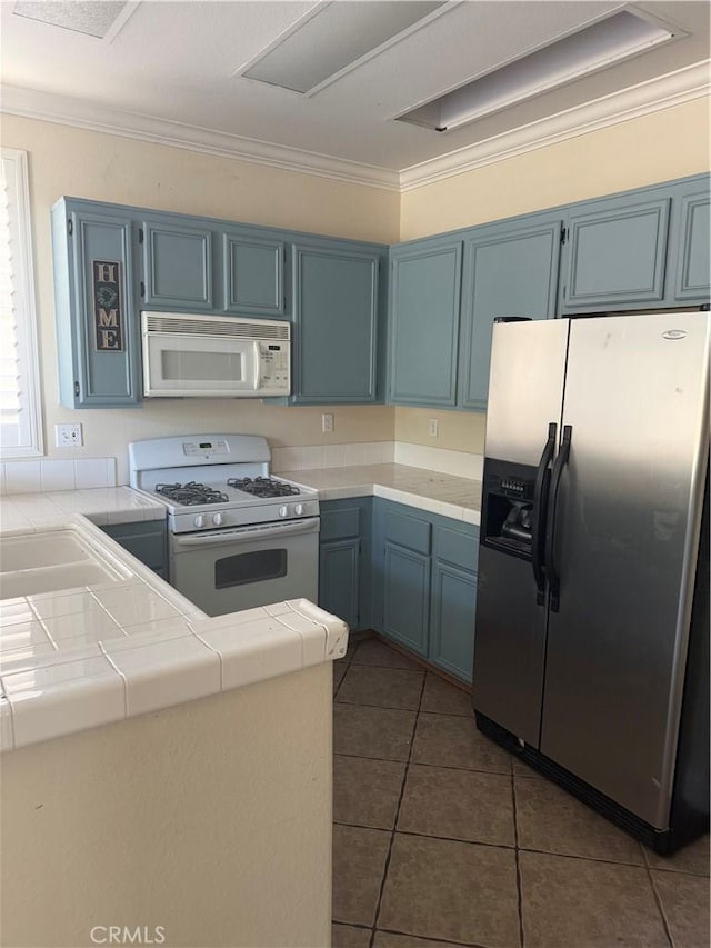
[[[149,398],[249,396],[258,388],[253,339],[143,333],[143,395]]]

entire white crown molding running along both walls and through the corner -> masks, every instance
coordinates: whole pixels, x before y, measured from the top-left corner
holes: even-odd
[[[484,164],[672,108],[708,96],[710,90],[711,60],[705,60],[399,172],[17,86],[2,87],[0,112],[403,193]]]

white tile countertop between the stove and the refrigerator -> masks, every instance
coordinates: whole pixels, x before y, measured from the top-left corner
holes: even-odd
[[[473,478],[408,465],[278,471],[277,476],[318,490],[321,500],[383,497],[467,523],[478,525],[481,521],[481,481]]]

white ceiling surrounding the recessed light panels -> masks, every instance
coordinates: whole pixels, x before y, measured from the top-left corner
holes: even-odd
[[[449,173],[477,149],[495,156],[521,130],[540,133],[550,122],[579,127],[591,103],[613,119],[629,112],[630,102],[663,104],[667,89],[671,103],[709,88],[705,0],[463,0],[434,11],[429,3],[420,23],[311,94],[240,74],[319,6],[313,0],[138,0],[127,4],[118,30],[98,39],[19,17],[13,0],[2,0],[1,107],[397,187],[425,178],[428,169]],[[630,6],[688,36],[451,132],[394,121]]]

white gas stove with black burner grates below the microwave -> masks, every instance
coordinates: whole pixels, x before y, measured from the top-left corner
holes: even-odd
[[[131,487],[168,508],[170,582],[209,616],[318,600],[318,493],[269,477],[269,461],[253,435],[129,445]]]

